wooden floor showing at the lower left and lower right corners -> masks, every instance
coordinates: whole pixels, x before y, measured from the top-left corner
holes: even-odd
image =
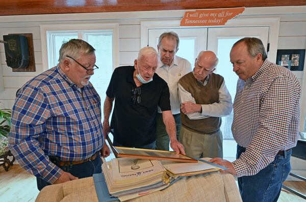
[[[285,183],[306,194],[306,182],[288,181]],[[35,201],[38,193],[36,178],[27,171],[24,171],[18,164],[10,167],[8,172],[2,166],[0,167],[0,201]],[[306,200],[286,190],[282,190],[278,202],[287,201],[305,202]]]

